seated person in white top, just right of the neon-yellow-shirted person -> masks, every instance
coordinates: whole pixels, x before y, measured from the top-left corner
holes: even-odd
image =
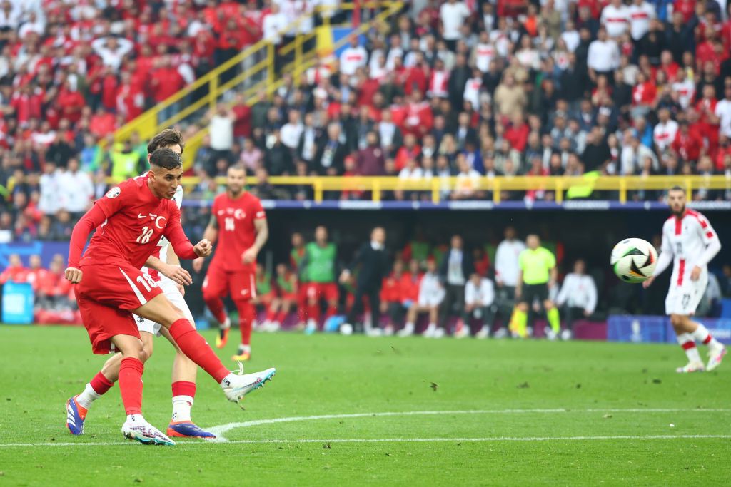
[[[561,333],[563,340],[572,337],[576,318],[588,318],[596,309],[596,284],[590,275],[586,275],[586,264],[579,259],[574,264],[574,272],[564,279],[561,291],[556,298],[556,305],[562,307],[566,329]]]

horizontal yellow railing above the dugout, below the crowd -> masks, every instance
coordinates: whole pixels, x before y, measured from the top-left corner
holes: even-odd
[[[109,183],[117,181],[108,180]],[[183,177],[183,186],[192,186],[200,182],[198,177]],[[224,185],[225,177],[216,178],[216,182]],[[250,178],[249,183],[254,183]],[[442,193],[464,188],[466,180],[459,177],[433,177],[431,180],[409,181],[398,177],[311,177],[311,176],[279,176],[269,177],[272,185],[309,186],[314,193],[314,201],[322,202],[325,191],[368,191],[371,200],[380,202],[384,191],[425,191],[431,194],[431,202],[442,201]],[[469,180],[469,188],[475,191],[489,191],[494,203],[501,202],[502,191],[553,191],[556,202],[564,202],[567,191],[572,188],[590,188],[593,191],[616,191],[618,201],[627,202],[630,191],[665,190],[673,186],[684,188],[689,195],[699,188],[731,189],[731,178],[725,176],[602,176],[595,180],[586,177],[552,177],[552,176],[515,176],[515,177],[479,177]],[[12,189],[12,187],[11,187]],[[689,196],[689,199],[690,196]]]

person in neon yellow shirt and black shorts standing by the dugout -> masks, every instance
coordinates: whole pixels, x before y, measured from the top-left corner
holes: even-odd
[[[525,338],[528,335],[528,311],[534,301],[541,302],[545,310],[546,319],[550,325],[546,329],[546,336],[556,340],[561,331],[561,321],[558,317],[558,308],[548,297],[548,289],[556,285],[558,271],[556,257],[545,247],[541,247],[538,235],[531,234],[526,238],[528,248],[518,256],[518,285],[515,287],[515,305],[510,319],[510,331]]]

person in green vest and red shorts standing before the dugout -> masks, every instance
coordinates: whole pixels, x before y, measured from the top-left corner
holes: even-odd
[[[338,249],[336,245],[327,241],[327,229],[324,226],[318,226],[315,229],[315,241],[309,242],[305,246],[305,255],[300,262],[300,275],[307,283],[306,334],[317,331],[321,315],[320,301],[322,299],[327,302],[325,320],[338,312],[337,257]]]

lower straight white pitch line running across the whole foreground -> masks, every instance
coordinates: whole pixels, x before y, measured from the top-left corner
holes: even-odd
[[[478,437],[478,438],[332,438],[332,439],[298,439],[298,440],[233,440],[235,443],[270,444],[270,443],[407,443],[407,442],[550,442],[550,441],[592,441],[592,440],[728,440],[731,434],[651,434],[616,436],[575,436],[575,437]],[[209,445],[211,441],[186,441],[178,445]],[[37,446],[131,446],[135,442],[45,442],[45,443],[0,443],[0,448],[29,448]]]

